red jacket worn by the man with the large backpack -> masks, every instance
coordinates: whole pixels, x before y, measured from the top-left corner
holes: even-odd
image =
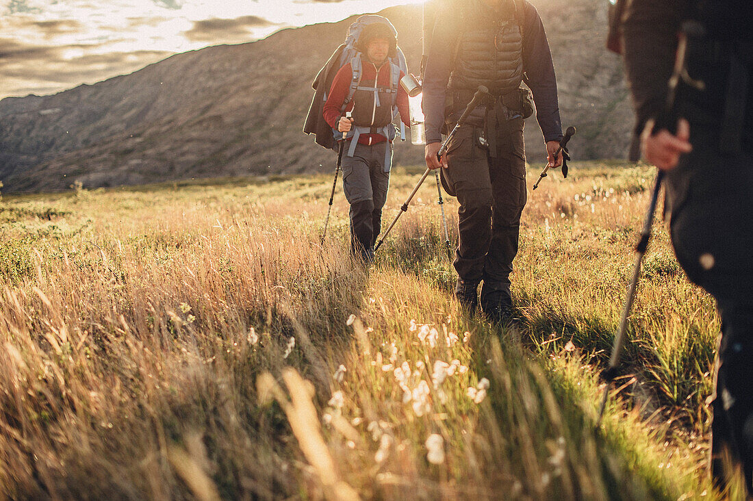
[[[361,67],[361,85],[370,86],[376,80],[377,85],[375,87],[390,86],[391,82],[389,81],[389,61],[386,61],[382,66],[380,66],[378,70],[378,77],[377,66],[367,61],[365,57],[362,60]],[[400,72],[400,78],[403,78],[403,76],[404,73]],[[325,107],[322,113],[325,117],[325,121],[327,121],[327,123],[330,124],[330,127],[335,130],[337,130],[337,123],[340,121],[340,117],[343,116],[343,113],[340,112],[340,108],[343,107],[343,102],[348,96],[348,91],[350,90],[350,81],[352,78],[353,70],[350,66],[350,63],[347,63],[342,68],[340,68],[340,71],[338,71],[337,75],[335,75],[334,81],[332,81],[332,87],[330,89],[327,102],[325,102]],[[408,95],[405,92],[403,86],[400,84],[398,84],[398,96],[396,98],[395,104],[398,105],[398,112],[400,112],[401,121],[403,121],[406,127],[410,127],[410,117],[408,115]],[[348,107],[345,109],[345,111],[349,112],[350,110],[352,110],[352,108],[353,102],[349,102]],[[387,138],[382,134],[361,134],[361,136],[358,138],[358,142],[364,145],[373,145],[378,142],[385,142],[386,140]]]

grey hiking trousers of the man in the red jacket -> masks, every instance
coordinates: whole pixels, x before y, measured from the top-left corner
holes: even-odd
[[[349,145],[345,146],[346,151]],[[385,157],[392,145],[355,145],[352,157],[343,155],[343,191],[350,203],[350,249],[354,256],[371,261],[373,246],[382,227],[382,208],[387,201],[389,172]]]

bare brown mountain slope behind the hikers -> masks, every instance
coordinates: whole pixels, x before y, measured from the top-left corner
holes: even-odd
[[[563,125],[578,127],[574,157],[622,156],[630,107],[619,61],[603,49],[605,2],[534,3],[541,3],[552,47]],[[420,7],[383,14],[395,23],[408,64],[417,69]],[[334,154],[300,130],[311,81],[352,20],[177,54],[131,75],[54,96],[3,99],[4,189],[331,170]],[[526,139],[529,162],[541,163],[541,132],[533,119]],[[422,157],[422,148],[397,145],[396,163],[421,163]]]

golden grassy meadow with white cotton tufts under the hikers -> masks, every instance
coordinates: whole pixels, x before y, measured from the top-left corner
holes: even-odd
[[[420,172],[395,172],[386,221]],[[4,197],[2,496],[720,496],[703,472],[719,321],[660,221],[594,429],[648,167],[573,163],[529,192],[502,326],[450,298],[431,185],[366,271],[340,191],[319,245],[330,181]]]

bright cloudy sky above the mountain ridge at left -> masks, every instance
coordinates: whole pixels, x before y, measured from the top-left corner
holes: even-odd
[[[0,0],[0,99],[52,94],[173,53],[422,1]]]

